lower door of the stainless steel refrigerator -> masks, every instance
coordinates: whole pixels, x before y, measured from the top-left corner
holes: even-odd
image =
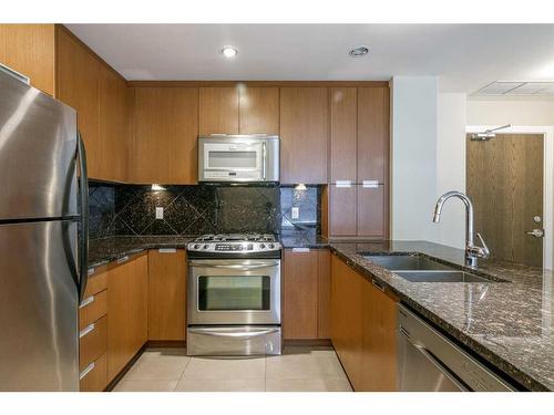
[[[76,222],[0,225],[0,391],[78,391]]]

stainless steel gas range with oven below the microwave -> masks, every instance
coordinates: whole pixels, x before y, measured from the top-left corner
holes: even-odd
[[[204,235],[187,246],[187,353],[280,354],[280,243]]]

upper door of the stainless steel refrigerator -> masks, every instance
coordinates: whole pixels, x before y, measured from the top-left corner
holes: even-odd
[[[78,215],[76,113],[0,72],[0,220]]]

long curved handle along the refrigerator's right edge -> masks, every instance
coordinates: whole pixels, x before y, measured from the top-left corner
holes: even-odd
[[[83,300],[86,281],[89,279],[89,176],[86,172],[86,151],[78,132],[76,154],[81,169],[80,181],[80,208],[81,208],[81,232],[79,238],[79,302]]]

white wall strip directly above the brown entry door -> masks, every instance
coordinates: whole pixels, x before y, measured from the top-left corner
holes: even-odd
[[[468,100],[468,125],[554,125],[554,101]]]

